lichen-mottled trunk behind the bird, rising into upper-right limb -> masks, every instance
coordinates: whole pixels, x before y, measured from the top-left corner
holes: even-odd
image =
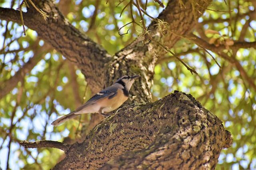
[[[197,3],[207,7],[210,0],[198,0]],[[184,7],[180,7],[179,0],[171,0],[168,2],[166,9],[158,16],[158,19],[167,24],[166,31],[162,34],[162,30],[157,29],[156,22],[152,22],[148,27],[150,36],[162,45],[172,48],[174,44],[183,36],[186,36],[200,15],[204,12],[203,8],[196,8],[196,14],[191,15],[192,4],[190,0],[184,1]],[[201,13],[201,14],[200,14]],[[196,17],[196,18],[194,18]],[[166,51],[159,43],[151,41],[146,45],[142,45],[143,39],[137,38],[133,43],[116,53],[114,60],[109,63],[106,74],[106,84],[110,85],[114,80],[123,74],[140,74],[140,82],[135,82],[131,89],[134,96],[133,102],[149,102],[151,98],[152,79],[154,75],[154,66],[159,56],[166,55]],[[129,101],[128,101],[129,102]],[[130,102],[132,103],[132,102]]]

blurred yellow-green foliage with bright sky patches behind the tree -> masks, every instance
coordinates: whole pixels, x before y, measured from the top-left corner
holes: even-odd
[[[140,26],[134,23],[120,29],[132,20],[130,6],[124,9],[129,1],[121,2],[60,0],[58,6],[72,25],[101,44],[108,53],[114,54],[131,43],[140,32]],[[162,2],[166,6],[167,0]],[[0,6],[16,9],[20,3],[20,0],[2,0]],[[140,3],[145,9],[146,1]],[[160,57],[154,68],[154,100],[174,90],[190,93],[222,119],[231,132],[233,145],[220,154],[217,169],[256,168],[256,92],[253,87],[256,84],[256,51],[255,46],[233,48],[232,45],[238,41],[255,42],[255,5],[255,2],[247,0],[231,0],[227,4],[216,0],[193,29],[194,35],[220,48],[218,51],[228,57],[223,57],[218,51],[206,51],[192,39],[183,38],[171,51],[198,75],[191,75],[168,53]],[[153,0],[147,1],[146,12],[150,16],[156,18],[162,10]],[[132,11],[134,20],[140,23],[140,14],[134,6]],[[145,14],[143,16],[146,25],[149,25],[152,19]],[[80,138],[82,131],[89,130],[91,115],[83,115],[81,119],[78,117],[56,128],[50,123],[57,116],[76,109],[92,94],[80,70],[40,40],[35,31],[25,27],[27,35],[23,36],[21,25],[4,20],[0,22],[0,27],[1,84],[7,83],[24,69],[28,61],[36,59],[33,69],[22,74],[17,86],[1,97],[0,155],[4,156],[0,159],[0,167],[50,169],[63,158],[62,151],[25,149],[18,142],[43,139],[72,141]],[[120,36],[127,31],[127,34]],[[238,64],[234,64],[236,61]]]

